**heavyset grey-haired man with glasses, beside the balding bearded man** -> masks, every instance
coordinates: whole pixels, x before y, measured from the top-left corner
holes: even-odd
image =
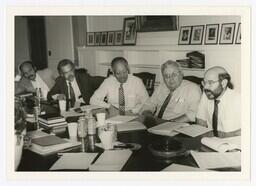
[[[195,83],[183,79],[178,63],[168,60],[161,66],[164,83],[144,104],[141,113],[148,127],[156,120],[194,122],[201,90]]]

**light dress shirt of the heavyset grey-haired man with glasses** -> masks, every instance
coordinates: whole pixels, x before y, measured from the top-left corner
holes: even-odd
[[[150,110],[154,113],[156,110],[157,116],[169,93],[170,90],[165,83],[160,84],[153,95],[146,101],[141,112]],[[180,86],[173,91],[162,118],[170,120],[185,114],[190,121],[195,121],[201,95],[202,92],[197,84],[182,80]]]

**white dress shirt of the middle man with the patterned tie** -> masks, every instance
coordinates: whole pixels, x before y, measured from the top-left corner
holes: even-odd
[[[90,99],[90,104],[104,108],[109,108],[113,105],[119,108],[119,87],[120,83],[114,76],[108,77],[94,92]],[[129,74],[127,81],[123,83],[123,89],[125,111],[131,110],[133,113],[138,113],[143,103],[148,99],[148,93],[142,80]],[[106,96],[108,103],[104,102]]]

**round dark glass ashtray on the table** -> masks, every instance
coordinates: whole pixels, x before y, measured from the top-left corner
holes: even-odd
[[[150,152],[157,157],[172,158],[184,155],[186,149],[182,143],[172,138],[158,140],[148,145]]]

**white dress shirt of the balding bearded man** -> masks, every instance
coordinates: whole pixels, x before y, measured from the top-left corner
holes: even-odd
[[[219,99],[218,104],[218,131],[233,132],[241,128],[241,103],[240,94],[234,90],[227,89]],[[212,128],[212,115],[214,111],[214,100],[209,100],[203,94],[199,107],[197,118],[207,122],[209,128]]]

